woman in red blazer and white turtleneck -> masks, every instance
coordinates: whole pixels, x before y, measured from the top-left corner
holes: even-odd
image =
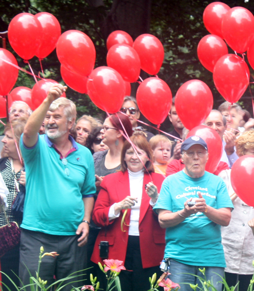
[[[102,228],[91,260],[104,265],[99,245],[108,242],[108,258],[122,260],[128,270],[119,275],[122,291],[145,291],[150,288],[149,277],[155,272],[161,275],[165,229],[158,224],[152,207],[164,177],[154,173],[152,151],[143,133],[134,133],[131,141],[136,151],[126,140],[121,152],[121,171],[109,174],[101,184],[92,219]]]

